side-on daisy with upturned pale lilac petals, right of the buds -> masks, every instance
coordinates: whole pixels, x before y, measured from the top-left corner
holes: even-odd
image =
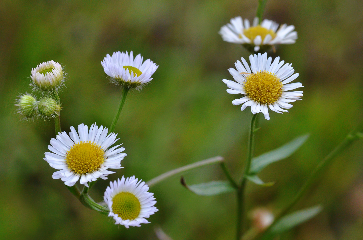
[[[124,53],[117,51],[110,56],[107,54],[101,62],[103,70],[111,77],[111,81],[129,88],[140,87],[152,80],[151,75],[158,69],[158,65],[138,54],[135,59],[132,51]]]

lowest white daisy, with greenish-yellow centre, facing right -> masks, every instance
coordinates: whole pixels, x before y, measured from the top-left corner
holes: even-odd
[[[150,223],[146,220],[150,215],[159,211],[154,194],[149,193],[149,186],[145,182],[135,179],[135,176],[110,182],[103,199],[109,206],[109,216],[115,219],[115,224],[126,228],[140,227],[141,223]]]

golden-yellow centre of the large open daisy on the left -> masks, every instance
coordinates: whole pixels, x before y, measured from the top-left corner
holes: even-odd
[[[105,152],[95,142],[78,142],[66,154],[68,168],[77,174],[92,173],[105,160]]]

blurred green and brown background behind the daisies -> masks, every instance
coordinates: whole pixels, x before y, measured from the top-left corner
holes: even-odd
[[[53,121],[21,121],[14,101],[30,92],[30,70],[54,60],[68,73],[60,93],[62,129],[80,123],[111,124],[121,90],[106,80],[107,53],[141,53],[159,65],[154,80],[132,91],[116,131],[125,146],[124,169],[109,176],[149,180],[167,170],[223,156],[241,175],[251,113],[232,105],[222,79],[249,53],[223,42],[220,27],[235,16],[253,19],[257,0],[3,0],[0,2],[0,239],[157,239],[161,226],[174,240],[233,239],[235,195],[197,196],[179,177],[151,188],[159,212],[151,224],[126,229],[83,207],[52,179],[42,158]],[[269,0],[266,18],[293,24],[298,40],[278,47],[303,83],[303,100],[290,113],[261,119],[256,155],[309,132],[287,160],[264,169],[272,187],[248,184],[250,209],[281,209],[317,163],[363,116],[363,2],[360,0]],[[295,209],[321,203],[314,219],[283,239],[363,238],[362,141],[335,159]],[[193,170],[188,183],[225,179],[218,166]],[[91,195],[102,200],[109,181]]]

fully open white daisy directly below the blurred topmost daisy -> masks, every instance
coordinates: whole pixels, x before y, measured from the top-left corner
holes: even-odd
[[[242,111],[251,107],[253,114],[262,112],[265,119],[269,120],[268,107],[278,113],[289,112],[282,108],[292,108],[293,105],[289,103],[301,100],[302,91],[287,92],[303,87],[301,83],[289,83],[299,76],[298,73],[293,74],[295,70],[291,63],[284,65],[284,61],[280,62],[280,57],[272,62],[271,57],[267,58],[267,53],[250,55],[251,68],[244,58],[241,60],[243,65],[238,60],[234,63],[237,70],[228,69],[236,82],[227,79],[223,79],[223,82],[231,88],[227,89],[229,94],[245,95],[232,101],[234,105],[243,103]]]

